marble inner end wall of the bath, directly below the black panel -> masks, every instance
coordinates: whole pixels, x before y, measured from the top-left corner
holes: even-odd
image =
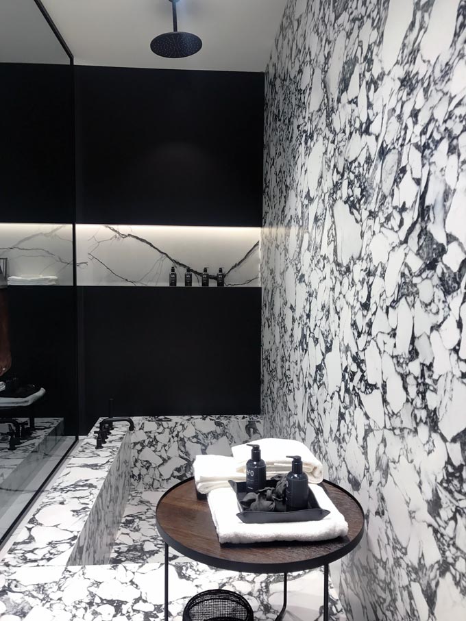
[[[196,455],[231,455],[230,446],[258,440],[256,416],[167,416],[134,418],[132,487],[157,490],[193,476]]]

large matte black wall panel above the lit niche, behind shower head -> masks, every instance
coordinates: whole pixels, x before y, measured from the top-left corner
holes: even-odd
[[[262,73],[75,70],[79,222],[262,225]]]

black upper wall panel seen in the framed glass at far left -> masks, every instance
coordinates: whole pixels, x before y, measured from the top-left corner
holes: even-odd
[[[0,222],[73,222],[73,68],[0,63],[0,84]]]

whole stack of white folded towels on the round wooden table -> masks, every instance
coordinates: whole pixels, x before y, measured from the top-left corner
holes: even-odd
[[[348,525],[345,518],[318,485],[323,479],[322,464],[307,446],[297,440],[278,438],[254,440],[254,444],[260,446],[261,457],[267,464],[267,479],[277,474],[287,474],[291,470],[291,459],[286,459],[286,455],[301,455],[310,489],[319,506],[328,509],[330,514],[318,522],[245,524],[237,516],[240,510],[238,501],[228,481],[245,481],[246,462],[251,457],[251,447],[246,444],[233,446],[233,457],[197,455],[194,461],[197,491],[208,494],[212,520],[221,544],[322,541],[347,535]]]

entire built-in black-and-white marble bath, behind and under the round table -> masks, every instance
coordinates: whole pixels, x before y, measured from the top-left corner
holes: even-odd
[[[188,474],[186,463],[181,467],[170,462],[169,454],[177,451],[187,460],[201,451],[225,453],[224,438],[236,443],[262,435],[261,420],[249,420],[247,416],[134,420],[134,444],[138,446],[144,440],[151,440],[151,450],[160,451],[162,463],[166,468],[173,468],[171,472],[160,468],[162,480],[167,484]],[[93,437],[84,441],[51,488],[51,494],[47,494],[34,512],[19,541],[10,548],[0,572],[0,618],[5,616],[8,621],[162,621],[164,567],[160,563],[160,553],[163,544],[155,523],[161,490],[133,490],[110,559],[112,564],[72,564],[78,560],[75,557],[79,557],[79,562],[89,560],[81,554],[82,544],[99,550],[101,546],[96,537],[103,537],[103,547],[106,547],[106,532],[112,533],[114,522],[105,516],[115,509],[118,511],[124,502],[115,485],[124,490],[125,484],[121,485],[125,477],[123,469],[128,476],[130,474],[127,462],[130,435],[122,428],[119,433],[115,432],[100,452],[94,448]],[[154,438],[151,438],[152,433]],[[186,442],[191,444],[187,446]],[[93,507],[104,517],[93,517]],[[86,532],[86,542],[78,540],[79,528]],[[94,541],[90,542],[89,537],[94,537]],[[95,562],[99,560],[97,556]],[[138,562],[128,562],[132,560]],[[252,605],[257,621],[273,621],[282,607],[281,575],[216,570],[180,557],[171,550],[169,611],[175,620],[181,620],[189,598],[212,588],[243,594]],[[319,621],[322,605],[321,570],[289,576],[288,608],[293,618]],[[332,585],[330,619],[345,621]]]

